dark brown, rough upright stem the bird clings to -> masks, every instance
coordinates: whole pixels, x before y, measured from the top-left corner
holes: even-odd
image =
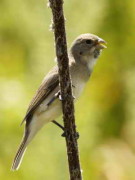
[[[58,59],[59,82],[62,97],[62,110],[66,133],[65,138],[67,146],[70,180],[82,180],[78,144],[76,138],[77,132],[74,117],[72,85],[69,74],[69,59],[67,54],[65,22],[63,15],[63,1],[49,0],[49,2],[53,14],[53,27],[56,44],[56,56]]]

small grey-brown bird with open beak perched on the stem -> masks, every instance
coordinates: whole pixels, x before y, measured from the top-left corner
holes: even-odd
[[[78,98],[91,76],[93,67],[106,42],[93,34],[82,34],[74,40],[68,56],[69,69],[73,85],[73,95]],[[44,78],[42,84],[32,99],[23,122],[25,132],[12,164],[12,170],[17,170],[24,152],[43,125],[55,120],[62,114],[59,92],[58,67],[54,66]],[[22,122],[22,123],[23,123]],[[56,124],[58,124],[55,121]]]

